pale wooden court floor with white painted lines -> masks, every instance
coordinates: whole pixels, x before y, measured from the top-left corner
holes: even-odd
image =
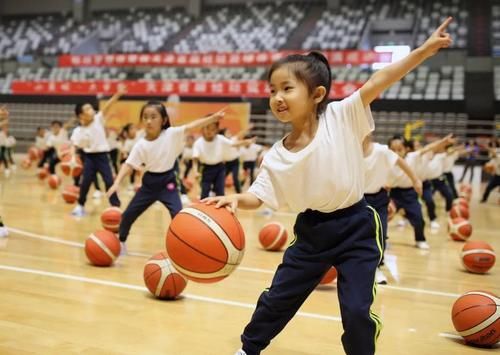
[[[266,217],[240,211],[245,255],[227,278],[211,284],[188,281],[175,301],[154,298],[144,284],[148,259],[165,248],[170,218],[153,205],[132,229],[128,255],[112,267],[91,266],[83,245],[101,229],[108,207],[89,201],[89,216],[70,216],[73,205],[57,190],[39,182],[35,170],[18,170],[0,184],[0,215],[11,228],[0,249],[0,354],[233,354],[259,294],[270,285],[282,252],[263,250],[259,231],[281,223],[293,237],[294,216]],[[67,179],[67,178],[65,178]],[[499,206],[471,201],[470,240],[500,250]],[[126,188],[120,196],[128,203]],[[496,197],[491,199],[496,201]],[[389,228],[384,272],[389,284],[378,287],[374,311],[384,328],[379,354],[487,354],[493,349],[466,346],[452,323],[452,307],[470,291],[500,294],[500,267],[472,274],[462,266],[463,242],[446,231],[438,199],[441,229],[426,230],[430,251],[413,247],[410,227]],[[265,354],[342,354],[342,325],[335,284],[315,290]],[[467,333],[465,333],[467,334]],[[362,341],[362,339],[360,339]]]

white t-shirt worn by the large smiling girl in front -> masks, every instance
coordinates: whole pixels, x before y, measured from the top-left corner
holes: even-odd
[[[273,209],[288,206],[332,212],[363,198],[365,168],[362,142],[374,129],[370,107],[359,91],[332,102],[319,117],[316,135],[299,152],[276,142],[248,192]]]

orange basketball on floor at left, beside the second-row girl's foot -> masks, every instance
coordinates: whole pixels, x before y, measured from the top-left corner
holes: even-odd
[[[95,266],[110,266],[120,254],[120,240],[113,232],[99,230],[85,241],[85,254]]]

